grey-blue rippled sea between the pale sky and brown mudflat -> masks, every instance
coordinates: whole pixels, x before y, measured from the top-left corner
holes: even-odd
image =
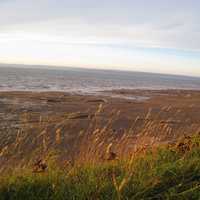
[[[95,93],[112,89],[200,89],[200,78],[79,68],[0,67],[1,91]]]

